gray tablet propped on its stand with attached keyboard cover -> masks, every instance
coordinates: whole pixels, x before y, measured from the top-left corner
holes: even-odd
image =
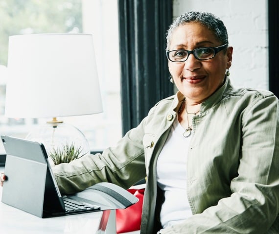
[[[8,136],[1,136],[1,140],[6,151],[4,173],[7,177],[2,188],[2,203],[47,218],[125,209],[139,201],[124,188],[107,182],[62,196],[44,144]]]

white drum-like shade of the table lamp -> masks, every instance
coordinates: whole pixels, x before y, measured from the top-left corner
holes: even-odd
[[[102,111],[92,35],[10,36],[6,117],[62,117]]]

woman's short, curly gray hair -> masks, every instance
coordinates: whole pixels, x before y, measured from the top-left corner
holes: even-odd
[[[177,17],[169,26],[166,33],[166,49],[169,49],[170,38],[175,28],[185,23],[198,22],[211,30],[217,41],[223,44],[229,43],[227,28],[220,18],[212,13],[203,11],[189,11]]]

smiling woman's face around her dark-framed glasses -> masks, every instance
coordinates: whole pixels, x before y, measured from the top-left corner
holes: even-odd
[[[217,41],[213,32],[206,26],[193,22],[180,25],[173,31],[169,50],[219,46],[222,44]],[[222,85],[231,62],[232,47],[228,47],[209,60],[197,60],[190,54],[185,62],[168,61],[168,68],[176,87],[185,95],[187,101],[198,104]]]

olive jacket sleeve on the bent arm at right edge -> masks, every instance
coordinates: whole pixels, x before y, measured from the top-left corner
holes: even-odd
[[[279,233],[279,103],[274,95],[263,94],[243,111],[241,138],[231,196],[161,234]]]

